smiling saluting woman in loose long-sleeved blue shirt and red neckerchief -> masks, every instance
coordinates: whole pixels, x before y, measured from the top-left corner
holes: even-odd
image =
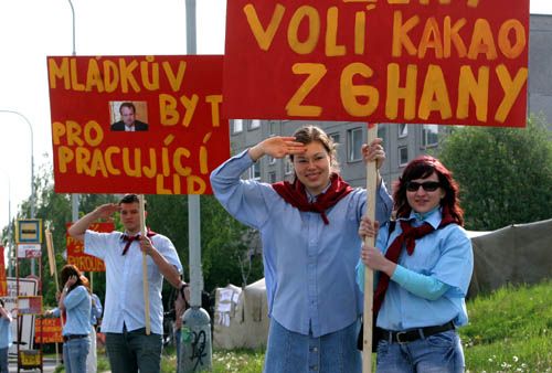
[[[242,180],[264,156],[289,156],[294,182]],[[362,156],[383,161],[381,139],[364,145]],[[386,221],[392,201],[379,179],[376,216]],[[331,138],[315,126],[270,137],[214,170],[211,185],[232,216],[261,232],[270,317],[264,372],[360,372],[354,267],[367,191],[341,179]]]

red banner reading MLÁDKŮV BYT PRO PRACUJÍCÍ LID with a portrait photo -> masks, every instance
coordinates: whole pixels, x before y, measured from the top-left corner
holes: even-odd
[[[51,56],[47,68],[56,192],[212,192],[230,156],[222,56]]]

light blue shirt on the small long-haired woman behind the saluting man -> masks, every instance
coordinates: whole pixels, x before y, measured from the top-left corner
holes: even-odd
[[[67,312],[63,335],[91,333],[91,295],[85,286],[79,285],[67,292],[63,300]]]

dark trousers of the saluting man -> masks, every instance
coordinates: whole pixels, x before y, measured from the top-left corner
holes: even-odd
[[[138,369],[145,373],[161,371],[161,334],[146,335],[146,328],[106,333],[105,347],[113,373],[136,373]]]

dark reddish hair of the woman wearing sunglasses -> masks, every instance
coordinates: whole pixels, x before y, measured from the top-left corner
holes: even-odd
[[[459,186],[453,179],[450,172],[440,161],[431,156],[421,156],[412,160],[403,171],[399,183],[395,185],[393,200],[395,203],[396,216],[407,217],[412,211],[406,199],[406,185],[411,180],[424,179],[433,172],[439,178],[440,188],[445,191],[445,196],[440,200],[440,205],[447,207],[448,213],[453,216],[458,225],[464,225],[464,211],[460,207],[458,199]]]

